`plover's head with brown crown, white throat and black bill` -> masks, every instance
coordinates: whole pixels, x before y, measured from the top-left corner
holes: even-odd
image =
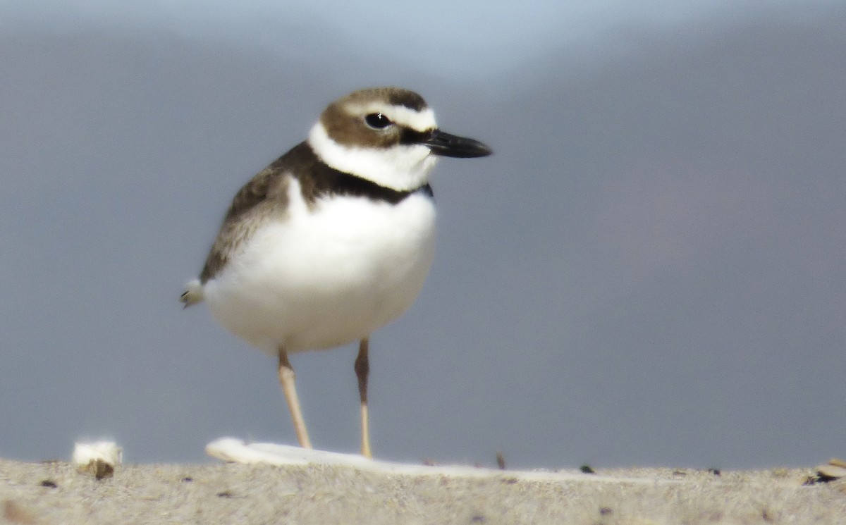
[[[332,102],[308,143],[328,166],[398,191],[425,185],[437,156],[491,154],[477,140],[437,129],[423,97],[395,87],[358,90]]]

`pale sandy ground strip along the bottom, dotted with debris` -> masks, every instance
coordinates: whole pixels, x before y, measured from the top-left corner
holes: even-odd
[[[468,469],[470,470],[470,469]],[[624,468],[470,475],[354,466],[120,465],[0,459],[3,523],[846,523],[846,479],[813,468]]]

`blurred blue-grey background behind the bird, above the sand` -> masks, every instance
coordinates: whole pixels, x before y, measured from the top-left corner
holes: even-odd
[[[350,90],[445,159],[437,257],[371,343],[377,457],[512,468],[846,454],[846,5],[0,4],[0,456],[295,443],[276,363],[183,311],[234,192]],[[357,451],[354,347],[294,355]]]

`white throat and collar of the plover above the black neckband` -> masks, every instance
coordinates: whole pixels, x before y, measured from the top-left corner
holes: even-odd
[[[320,121],[311,128],[308,143],[328,166],[398,191],[426,184],[437,161],[425,145],[365,148],[338,144]]]

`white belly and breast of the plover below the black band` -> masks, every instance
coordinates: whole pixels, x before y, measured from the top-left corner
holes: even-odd
[[[266,353],[337,347],[414,302],[434,255],[435,206],[334,196],[309,210],[292,183],[290,213],[268,222],[206,282],[223,327]]]

